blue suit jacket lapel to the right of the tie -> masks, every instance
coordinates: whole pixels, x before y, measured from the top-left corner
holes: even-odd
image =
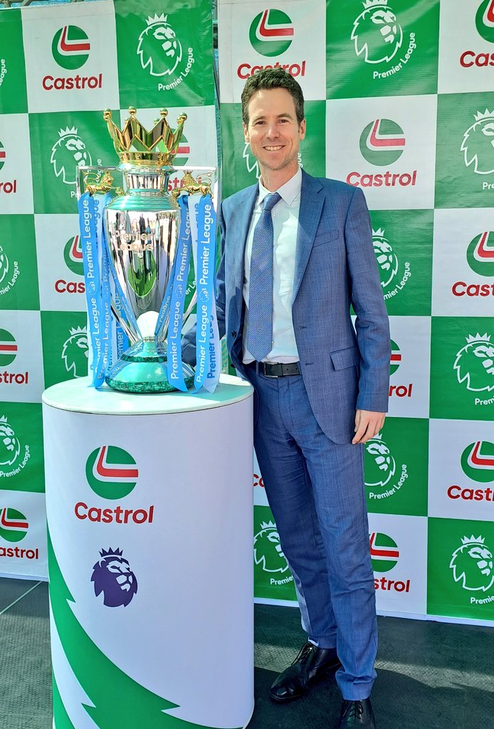
[[[302,278],[307,268],[310,252],[318,229],[324,205],[323,189],[320,182],[302,170],[302,190],[300,191],[299,230],[297,233],[297,252],[295,258],[294,302],[299,292]]]

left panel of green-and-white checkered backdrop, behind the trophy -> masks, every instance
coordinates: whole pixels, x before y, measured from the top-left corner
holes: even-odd
[[[217,165],[211,2],[163,10],[0,12],[1,574],[47,577],[41,396],[87,374],[76,165],[118,163],[103,109],[137,106],[149,128],[162,106],[172,126],[187,112],[177,165]]]

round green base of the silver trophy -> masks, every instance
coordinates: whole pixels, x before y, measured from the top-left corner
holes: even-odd
[[[184,381],[189,388],[194,383],[194,370],[182,364]],[[167,373],[166,346],[156,344],[154,338],[144,339],[124,352],[117,364],[111,367],[105,378],[106,384],[120,392],[173,392]]]

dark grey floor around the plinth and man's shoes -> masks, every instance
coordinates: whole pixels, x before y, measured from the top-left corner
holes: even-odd
[[[257,605],[255,617],[249,729],[336,728],[331,677],[287,706],[267,695],[305,640],[297,609]],[[493,628],[380,617],[379,630],[377,729],[494,729]],[[52,729],[51,701],[47,585],[0,578],[0,729]]]

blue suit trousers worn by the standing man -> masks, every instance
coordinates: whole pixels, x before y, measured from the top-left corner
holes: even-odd
[[[269,378],[254,366],[246,375],[258,398],[256,455],[302,627],[318,646],[337,647],[343,698],[367,698],[376,677],[377,625],[364,446],[329,440],[302,376]]]

